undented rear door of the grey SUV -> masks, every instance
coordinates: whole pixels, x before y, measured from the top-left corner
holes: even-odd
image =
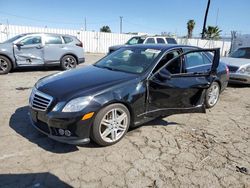
[[[58,64],[67,50],[60,35],[46,34],[44,46],[44,61],[46,64]]]

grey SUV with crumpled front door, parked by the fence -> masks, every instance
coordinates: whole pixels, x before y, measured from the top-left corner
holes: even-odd
[[[84,60],[82,42],[70,35],[27,33],[0,44],[0,74],[22,66],[61,66],[66,70]]]

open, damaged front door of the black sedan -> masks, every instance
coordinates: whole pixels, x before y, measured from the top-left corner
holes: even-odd
[[[197,55],[205,52],[214,53],[210,69],[187,71],[188,67],[185,62],[190,60],[191,54]],[[215,78],[219,54],[219,49],[192,50],[172,58],[159,68],[148,79],[146,114],[155,117],[205,112],[205,92]]]

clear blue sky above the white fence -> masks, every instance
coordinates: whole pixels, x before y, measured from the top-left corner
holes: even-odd
[[[109,25],[119,32],[161,32],[186,35],[186,23],[194,19],[194,35],[202,30],[207,0],[0,0],[0,23],[99,31]],[[236,30],[250,33],[250,0],[211,0],[208,25],[216,24],[223,35]]]

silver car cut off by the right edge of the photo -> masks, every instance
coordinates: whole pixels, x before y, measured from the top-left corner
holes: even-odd
[[[238,48],[229,57],[221,58],[227,64],[229,82],[250,84],[250,47]]]

